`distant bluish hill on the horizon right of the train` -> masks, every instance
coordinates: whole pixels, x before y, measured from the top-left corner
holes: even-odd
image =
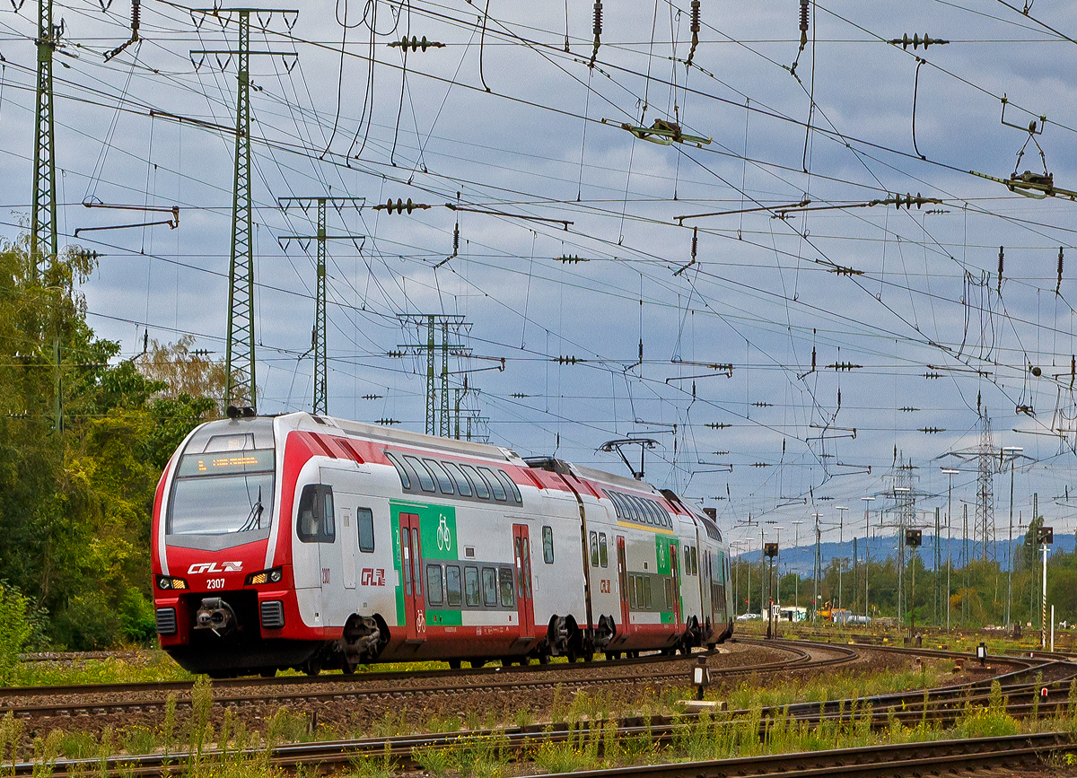
[[[1003,532],[1006,529],[1003,528]],[[773,536],[767,538],[768,542],[773,540]],[[1015,530],[1013,533],[1013,553],[1018,553],[1019,546],[1024,542],[1024,532],[1020,534]],[[961,545],[962,539],[960,537],[952,538],[950,540],[950,551],[952,553],[952,562],[954,567],[961,565]],[[1054,533],[1054,545],[1052,546],[1051,553],[1057,554],[1059,552],[1071,553],[1074,551],[1075,545],[1077,545],[1077,539],[1073,534],[1059,534]],[[885,559],[887,556],[897,556],[897,537],[896,536],[881,536],[879,538],[873,538],[868,542],[868,552],[872,561],[880,561]],[[923,537],[923,545],[919,550],[920,558],[923,560],[924,566],[927,569],[932,569],[935,565],[935,537],[929,536],[926,532]],[[946,566],[947,559],[947,539],[943,536],[941,542],[939,543],[939,553],[942,557],[942,566]],[[973,553],[973,540],[968,540],[968,553]],[[843,556],[849,560],[850,567],[853,564],[853,541],[852,538],[845,540],[844,543],[829,542],[820,544],[820,558],[823,561],[823,568],[825,569],[830,564],[830,559],[836,556]],[[856,555],[859,557],[861,561],[864,560],[864,538],[858,538],[856,541]],[[995,541],[995,558],[998,559],[999,564],[1005,568],[1006,566],[1006,540]],[[759,561],[759,552],[752,551],[747,554],[736,555],[732,560],[742,559],[751,562]],[[800,538],[800,545],[797,548],[786,545],[785,533],[782,533],[782,548],[779,556],[779,564],[781,565],[782,572],[786,571],[798,571],[801,575],[810,575],[812,572],[812,566],[815,560],[815,546],[814,544],[806,543],[803,538]]]

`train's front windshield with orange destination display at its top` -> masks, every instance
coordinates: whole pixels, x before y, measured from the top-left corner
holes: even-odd
[[[274,451],[188,454],[180,460],[168,534],[227,534],[268,529]]]

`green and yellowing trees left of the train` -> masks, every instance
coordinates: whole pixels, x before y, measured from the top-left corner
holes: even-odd
[[[0,246],[0,580],[71,649],[152,639],[157,480],[222,394],[190,341],[117,359],[78,292],[94,263],[68,250],[34,278],[25,241]]]

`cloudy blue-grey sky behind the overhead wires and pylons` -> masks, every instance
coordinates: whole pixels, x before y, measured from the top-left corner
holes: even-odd
[[[261,413],[313,391],[316,247],[284,239],[313,211],[279,198],[365,198],[328,212],[349,236],[327,244],[331,415],[422,431],[424,333],[402,315],[450,314],[476,435],[623,474],[599,447],[654,439],[647,481],[730,540],[784,545],[817,518],[836,541],[865,506],[890,526],[901,463],[917,524],[941,506],[960,532],[976,463],[947,455],[984,418],[992,450],[1016,447],[995,459],[998,536],[1011,477],[1015,527],[1036,494],[1074,531],[1077,203],[973,171],[1077,190],[1077,3],[812,2],[802,51],[795,0],[701,0],[694,51],[688,0],[607,0],[597,52],[575,0],[266,8],[298,15],[251,24]],[[106,59],[130,5],[54,5],[60,245],[99,252],[82,292],[122,357],[149,331],[223,358],[236,58],[193,52],[234,50],[237,16],[140,10]],[[29,219],[36,30],[32,0],[0,9],[8,239]],[[390,45],[411,36],[444,46]],[[656,120],[699,143],[623,127]],[[375,210],[397,198],[430,208]],[[179,226],[75,238],[167,216],[86,203],[179,206]]]

